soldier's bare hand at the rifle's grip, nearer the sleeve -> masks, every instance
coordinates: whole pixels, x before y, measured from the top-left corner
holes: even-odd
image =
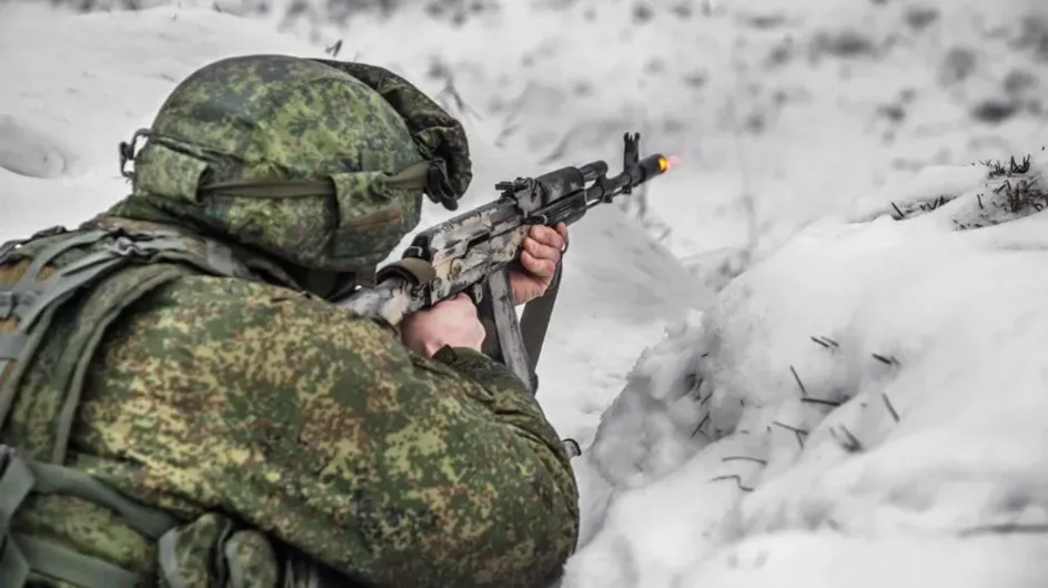
[[[432,357],[445,345],[481,351],[484,336],[476,306],[465,294],[439,302],[401,322],[401,341],[409,349],[426,357]]]

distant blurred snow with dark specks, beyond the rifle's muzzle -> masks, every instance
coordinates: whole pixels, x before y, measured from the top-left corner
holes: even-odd
[[[265,20],[410,77],[480,141],[542,165],[617,161],[639,131],[681,165],[623,206],[714,285],[711,267],[737,271],[871,187],[1040,149],[1048,116],[1042,0],[51,4]]]

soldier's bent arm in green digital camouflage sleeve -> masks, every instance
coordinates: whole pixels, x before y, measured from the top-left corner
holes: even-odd
[[[161,288],[94,362],[78,442],[152,504],[231,511],[376,586],[542,586],[577,490],[535,399],[470,349],[433,358],[246,282]]]

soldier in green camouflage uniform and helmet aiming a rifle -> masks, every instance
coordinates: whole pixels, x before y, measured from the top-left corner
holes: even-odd
[[[568,456],[472,302],[328,302],[465,192],[458,122],[381,68],[252,55],[139,134],[130,196],[0,250],[0,586],[555,580]],[[532,232],[517,303],[565,239]]]

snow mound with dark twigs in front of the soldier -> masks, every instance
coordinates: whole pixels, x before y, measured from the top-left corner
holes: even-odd
[[[1042,586],[1039,155],[815,223],[648,349],[562,587]]]

